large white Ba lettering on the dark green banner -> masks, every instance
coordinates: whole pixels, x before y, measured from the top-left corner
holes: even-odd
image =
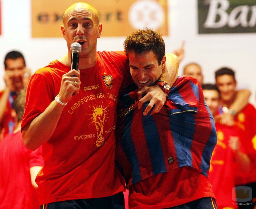
[[[256,25],[256,5],[241,5],[235,7],[230,14],[228,14],[226,12],[230,6],[228,0],[205,0],[203,3],[205,5],[209,4],[208,15],[204,23],[205,28],[221,28],[226,25],[233,28],[239,24],[241,24],[242,27],[254,27]],[[252,11],[252,15],[250,21],[247,22],[250,10]],[[216,22],[217,15],[220,16],[218,22]]]

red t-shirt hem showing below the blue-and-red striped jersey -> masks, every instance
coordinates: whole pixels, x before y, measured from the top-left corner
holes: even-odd
[[[184,166],[129,186],[129,208],[168,208],[203,197],[215,198],[206,176]],[[158,201],[157,201],[158,200]]]

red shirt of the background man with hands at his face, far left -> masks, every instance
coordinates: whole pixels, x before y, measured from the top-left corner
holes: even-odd
[[[0,98],[2,97],[3,93],[3,91],[0,92]],[[0,130],[2,130],[2,128],[5,129],[4,135],[12,133],[15,128],[15,118],[12,117],[12,103],[15,98],[16,94],[11,93],[9,95],[4,115],[2,117],[2,120],[0,121]]]

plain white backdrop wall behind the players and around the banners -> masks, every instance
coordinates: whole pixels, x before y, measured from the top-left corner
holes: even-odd
[[[2,35],[0,36],[0,89],[4,88],[4,56],[10,50],[21,51],[32,72],[50,61],[63,57],[66,42],[63,38],[31,38],[31,1],[2,0]],[[96,8],[97,9],[97,8]],[[197,0],[169,0],[169,30],[165,36],[166,52],[171,53],[185,40],[186,55],[179,74],[188,62],[203,68],[205,83],[214,82],[214,71],[222,66],[236,70],[239,86],[256,90],[256,33],[199,35]],[[104,26],[103,26],[104,30]],[[61,29],[59,30],[61,33]],[[97,50],[122,50],[125,37],[100,38]]]

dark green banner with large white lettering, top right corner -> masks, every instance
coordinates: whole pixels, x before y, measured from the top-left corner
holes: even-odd
[[[198,0],[199,33],[255,33],[255,0]]]

